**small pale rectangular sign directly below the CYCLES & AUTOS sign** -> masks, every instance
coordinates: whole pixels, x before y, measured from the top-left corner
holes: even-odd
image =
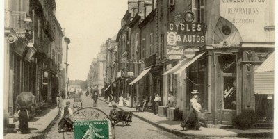
[[[183,47],[167,46],[167,58],[168,59],[182,59]]]

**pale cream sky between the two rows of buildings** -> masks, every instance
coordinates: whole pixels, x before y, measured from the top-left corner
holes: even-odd
[[[100,45],[117,35],[127,0],[56,0],[56,18],[70,38],[70,80],[86,80]]]

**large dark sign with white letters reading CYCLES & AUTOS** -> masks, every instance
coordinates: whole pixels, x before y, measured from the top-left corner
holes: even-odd
[[[167,26],[167,45],[170,46],[203,46],[205,44],[203,23],[170,22]]]

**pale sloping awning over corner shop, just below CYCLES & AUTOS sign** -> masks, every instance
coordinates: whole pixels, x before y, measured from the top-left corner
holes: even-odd
[[[182,60],[180,63],[178,63],[177,65],[172,67],[172,69],[170,69],[167,72],[165,72],[163,75],[167,75],[167,74],[179,74],[182,70],[185,70],[186,67],[188,67],[189,65],[194,63],[195,60],[197,60],[198,58],[203,56],[204,53],[205,52],[195,56],[194,58],[186,58],[186,59]]]

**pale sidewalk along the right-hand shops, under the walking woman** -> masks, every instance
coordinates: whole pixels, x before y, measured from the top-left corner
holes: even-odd
[[[99,100],[105,101],[108,104],[108,101],[104,97],[99,97]],[[114,103],[115,104],[115,103]],[[166,117],[160,117],[149,112],[138,112],[136,108],[130,107],[119,107],[117,108],[122,111],[132,111],[133,115],[145,120],[150,124],[169,131],[174,134],[179,134],[181,136],[206,136],[206,137],[273,137],[273,129],[248,129],[248,130],[238,130],[238,129],[216,129],[216,128],[206,128],[201,127],[199,131],[183,131],[180,124],[181,121],[172,121],[168,120]]]

